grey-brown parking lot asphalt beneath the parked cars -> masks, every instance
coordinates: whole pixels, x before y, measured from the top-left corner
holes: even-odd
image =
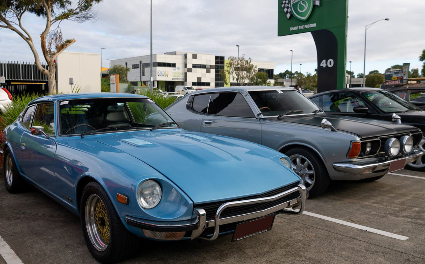
[[[2,170],[3,171],[3,170]],[[271,231],[231,243],[144,241],[123,263],[425,263],[425,173],[334,182],[306,212],[408,237],[400,240],[311,215],[278,215]],[[0,236],[24,264],[97,263],[79,218],[44,194],[9,194],[0,175]],[[366,229],[367,229],[366,228]],[[0,256],[0,264],[6,262]]]

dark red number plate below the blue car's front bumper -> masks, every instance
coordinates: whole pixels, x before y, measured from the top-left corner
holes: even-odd
[[[233,233],[232,242],[246,239],[272,229],[273,222],[275,221],[275,213],[262,216],[257,219],[248,220],[246,222],[236,225],[235,233]]]

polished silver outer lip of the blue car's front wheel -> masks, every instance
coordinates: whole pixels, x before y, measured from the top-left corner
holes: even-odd
[[[100,197],[96,194],[91,194],[88,197],[87,202],[85,203],[85,227],[91,244],[93,244],[96,250],[102,252],[108,247],[108,242],[105,242],[105,240],[102,239],[99,230],[96,227],[97,221],[94,217],[94,211],[96,210],[96,205],[99,200],[105,205],[102,199],[100,199]]]

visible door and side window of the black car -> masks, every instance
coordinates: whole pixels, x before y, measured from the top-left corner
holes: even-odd
[[[369,118],[375,111],[355,93],[350,92],[335,92],[327,93],[322,96],[317,96],[311,99],[314,104],[322,108],[325,112],[334,115],[346,115],[351,117]],[[365,106],[368,107],[368,112],[358,113],[354,112],[354,107]]]

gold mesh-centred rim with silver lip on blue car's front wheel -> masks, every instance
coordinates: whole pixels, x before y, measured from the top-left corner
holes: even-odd
[[[85,227],[91,244],[98,251],[105,251],[109,242],[109,219],[102,199],[91,194],[85,203]]]

